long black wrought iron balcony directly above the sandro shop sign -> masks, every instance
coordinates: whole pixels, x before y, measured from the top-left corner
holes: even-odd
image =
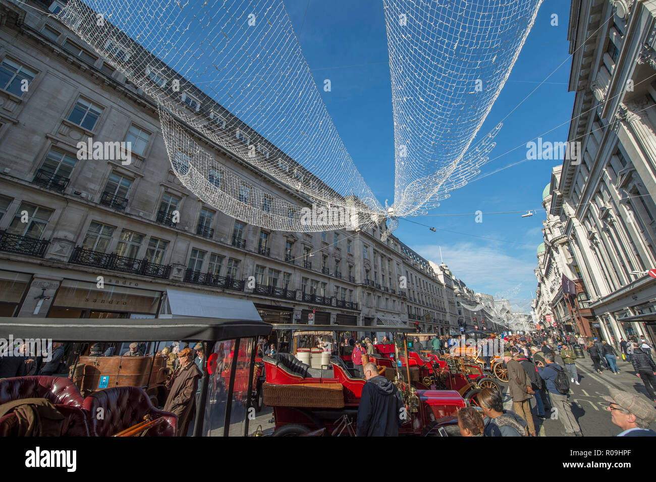
[[[146,260],[119,256],[115,253],[92,251],[80,246],[73,249],[68,262],[102,268],[104,270],[122,271],[136,275],[152,276],[154,278],[169,279],[171,276],[171,265],[152,263]]]

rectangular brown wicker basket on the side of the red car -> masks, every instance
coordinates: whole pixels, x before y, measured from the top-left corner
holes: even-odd
[[[300,383],[277,385],[265,383],[264,405],[269,407],[344,408],[344,390],[340,383]]]

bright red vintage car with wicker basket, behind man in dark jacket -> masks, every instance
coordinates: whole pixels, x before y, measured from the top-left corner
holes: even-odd
[[[309,328],[309,327],[308,327]],[[362,327],[335,327],[314,325],[313,331],[358,331]],[[388,327],[386,327],[388,329]],[[397,345],[404,346],[403,332],[414,328],[395,328],[400,333]],[[334,339],[338,339],[335,337]],[[303,353],[303,352],[301,352]],[[276,430],[274,436],[304,435],[320,430],[326,435],[354,435],[359,400],[365,380],[354,376],[338,354],[332,354],[329,363],[307,364],[298,359],[297,353],[276,353],[264,357],[266,382],[264,404],[274,409]],[[384,357],[383,357],[384,358]],[[370,361],[386,363],[383,358]],[[390,361],[390,358],[386,358]],[[394,371],[386,365],[377,365],[379,374],[394,381],[405,406],[407,422],[400,428],[400,435],[438,435],[443,429],[445,417],[453,417],[466,402],[453,390],[417,390],[408,383],[409,367]],[[447,426],[455,419],[450,418]]]

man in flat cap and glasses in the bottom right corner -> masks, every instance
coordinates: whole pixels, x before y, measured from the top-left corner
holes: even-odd
[[[602,397],[610,405],[611,421],[623,430],[617,437],[656,437],[649,424],[656,420],[656,410],[651,403],[636,393],[611,388],[610,397]]]

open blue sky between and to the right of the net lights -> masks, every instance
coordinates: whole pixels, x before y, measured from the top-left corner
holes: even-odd
[[[429,216],[410,218],[434,226],[436,232],[405,220],[400,220],[396,231],[403,242],[437,264],[441,247],[444,262],[468,287],[509,298],[514,310],[528,311],[531,293],[535,293],[533,269],[537,266],[537,245],[542,242],[544,210],[528,218],[519,213],[483,214],[482,223],[476,223],[473,214],[454,214],[541,209],[544,186],[552,168],[562,161],[525,161],[525,146],[537,136],[550,142],[567,140],[574,98],[573,92],[567,92],[571,66],[569,5],[564,0],[542,5],[508,82],[480,131],[489,132],[555,70],[504,121],[491,153],[493,160],[477,179],[453,191]],[[382,2],[287,0],[285,7],[346,148],[380,202],[389,199],[391,205],[394,132]],[[552,26],[553,14],[558,15],[558,26]],[[321,88],[324,79],[331,80],[331,92]],[[490,174],[520,161],[524,162]]]

